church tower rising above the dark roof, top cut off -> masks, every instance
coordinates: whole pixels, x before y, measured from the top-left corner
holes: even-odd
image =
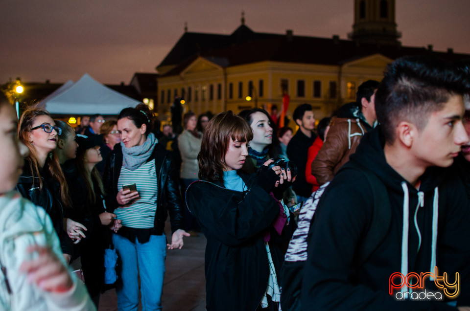
[[[357,43],[400,45],[395,0],[354,0],[354,24],[348,37]]]

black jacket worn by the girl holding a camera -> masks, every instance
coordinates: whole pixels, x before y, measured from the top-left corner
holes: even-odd
[[[205,255],[207,310],[256,310],[269,277],[263,233],[279,215],[279,205],[257,184],[240,174],[246,193],[198,180],[186,192],[191,213],[207,238]],[[282,254],[269,243],[278,270]]]

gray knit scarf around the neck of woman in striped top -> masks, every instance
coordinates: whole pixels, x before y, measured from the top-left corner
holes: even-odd
[[[140,146],[126,148],[121,142],[122,147],[122,167],[135,171],[152,155],[158,139],[153,133],[148,134],[147,139]]]

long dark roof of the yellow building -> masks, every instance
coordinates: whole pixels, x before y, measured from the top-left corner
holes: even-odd
[[[291,31],[282,35],[257,33],[241,25],[232,35],[185,33],[159,66],[174,65],[163,75],[170,76],[181,73],[199,56],[208,60],[224,60],[217,63],[221,67],[262,61],[339,66],[374,54],[390,59],[430,54],[448,61],[470,58],[470,54],[454,53],[450,49],[447,52],[436,52],[431,46],[359,44],[337,36],[294,36]]]

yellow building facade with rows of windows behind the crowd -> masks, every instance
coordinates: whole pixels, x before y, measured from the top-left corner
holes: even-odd
[[[196,114],[228,110],[238,113],[255,107],[270,111],[272,105],[280,110],[285,92],[290,98],[288,116],[298,105],[309,103],[319,119],[354,101],[357,87],[364,81],[380,81],[391,61],[376,54],[341,66],[262,61],[222,67],[198,57],[178,75],[158,79],[158,112],[169,117],[176,97],[185,100],[184,111]]]

